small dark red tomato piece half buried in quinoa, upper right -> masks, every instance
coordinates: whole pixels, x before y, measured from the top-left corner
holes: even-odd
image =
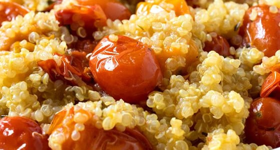
[[[220,36],[217,35],[216,33],[214,33],[212,35],[212,40],[208,41],[206,40],[204,42],[205,46],[203,48],[204,51],[211,51],[214,50],[216,51],[218,54],[223,55],[223,56],[229,56],[229,44],[227,42],[227,40]]]

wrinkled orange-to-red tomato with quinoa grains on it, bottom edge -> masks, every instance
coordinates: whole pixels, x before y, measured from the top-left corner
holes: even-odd
[[[84,109],[67,107],[55,114],[48,145],[52,149],[151,149],[146,137],[136,129],[104,130],[95,127],[94,114]]]

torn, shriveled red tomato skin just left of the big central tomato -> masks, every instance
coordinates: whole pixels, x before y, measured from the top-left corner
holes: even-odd
[[[60,63],[54,59],[47,59],[37,62],[42,69],[47,72],[52,80],[57,78],[69,81],[73,85],[81,85],[77,77],[81,77],[84,82],[91,82],[90,70],[86,53],[77,50],[71,51],[71,55],[61,55]]]

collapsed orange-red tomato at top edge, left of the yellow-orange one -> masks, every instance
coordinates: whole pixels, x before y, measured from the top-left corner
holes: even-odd
[[[106,19],[128,19],[130,11],[115,0],[77,0],[69,9],[55,12],[59,25],[70,25],[79,37],[91,36],[97,28],[106,25]]]

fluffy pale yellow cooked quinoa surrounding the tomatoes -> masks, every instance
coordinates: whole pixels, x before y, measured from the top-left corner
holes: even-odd
[[[54,115],[74,107],[94,119],[74,112],[78,129],[72,132],[72,140],[79,138],[84,122],[92,121],[104,130],[137,128],[153,149],[271,149],[245,143],[244,123],[269,68],[280,63],[280,50],[267,57],[255,47],[231,46],[230,56],[224,57],[203,47],[217,34],[240,44],[236,25],[241,25],[245,11],[259,3],[272,5],[270,12],[277,12],[279,0],[188,0],[190,13],[178,16],[173,5],[162,0],[153,0],[149,11],[137,9],[137,0],[124,0],[135,13],[129,19],[107,19],[106,26],[89,36],[98,41],[108,35],[117,41],[116,35],[125,35],[154,51],[163,78],[148,94],[145,106],[114,99],[96,83],[52,80],[37,64],[47,59],[61,64],[60,54],[71,54],[71,44],[83,37],[81,31],[70,31],[74,25],[61,26],[55,18],[55,11],[77,1],[62,0],[45,12],[47,0],[10,1],[31,11],[0,27],[0,115],[29,117],[48,133]],[[61,149],[63,139],[63,133],[54,132],[48,145]]]

